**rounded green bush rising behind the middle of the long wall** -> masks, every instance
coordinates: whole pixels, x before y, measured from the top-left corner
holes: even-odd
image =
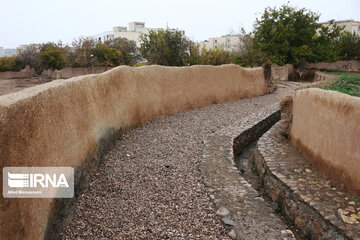
[[[184,66],[188,58],[188,40],[179,31],[150,30],[140,36],[142,56],[150,64]]]

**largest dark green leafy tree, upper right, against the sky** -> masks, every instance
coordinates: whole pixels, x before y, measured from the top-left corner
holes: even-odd
[[[305,8],[266,8],[254,25],[254,47],[277,65],[335,61],[341,28],[333,23],[325,27],[318,20],[318,14]]]

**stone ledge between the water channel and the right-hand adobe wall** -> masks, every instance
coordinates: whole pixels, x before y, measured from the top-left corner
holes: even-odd
[[[322,177],[279,132],[274,125],[255,152],[266,193],[305,236],[359,240],[359,198]]]

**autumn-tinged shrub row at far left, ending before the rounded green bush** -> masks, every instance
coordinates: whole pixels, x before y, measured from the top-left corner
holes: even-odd
[[[36,74],[64,67],[115,67],[140,61],[134,41],[116,38],[104,43],[79,38],[71,46],[59,43],[30,44],[17,49],[17,56],[0,58],[0,71],[16,71],[29,65]]]

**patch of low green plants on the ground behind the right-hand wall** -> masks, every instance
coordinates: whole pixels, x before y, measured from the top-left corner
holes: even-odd
[[[360,74],[358,73],[331,73],[339,76],[339,80],[323,89],[334,90],[352,96],[360,97]]]

